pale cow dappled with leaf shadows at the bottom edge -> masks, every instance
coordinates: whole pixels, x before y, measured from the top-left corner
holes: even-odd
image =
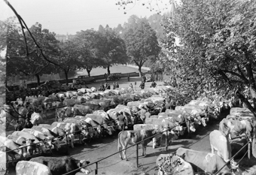
[[[194,175],[193,167],[178,155],[160,154],[156,161],[158,167],[157,175],[166,174],[166,170],[172,170],[173,174]]]

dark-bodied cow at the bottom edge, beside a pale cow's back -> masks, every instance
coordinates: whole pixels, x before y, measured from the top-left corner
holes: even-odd
[[[63,156],[63,157],[36,157],[31,158],[30,161],[35,161],[40,164],[46,165],[50,172],[53,175],[59,175],[63,173],[69,173],[72,170],[75,170],[73,173],[69,174],[75,174],[79,172],[77,170],[80,167],[84,167],[87,164],[90,164],[90,161],[86,160],[77,160],[75,158],[69,157],[69,156]],[[85,174],[89,173],[89,170],[85,170],[84,168],[81,168],[81,171]]]

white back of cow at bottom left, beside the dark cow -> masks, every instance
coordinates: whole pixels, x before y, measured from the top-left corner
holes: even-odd
[[[17,175],[52,175],[47,166],[34,161],[18,161],[15,170]]]

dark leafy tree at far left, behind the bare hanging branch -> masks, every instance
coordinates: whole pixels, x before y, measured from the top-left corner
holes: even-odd
[[[9,19],[11,20],[11,19]],[[55,71],[53,66],[47,60],[41,56],[41,50],[35,47],[32,38],[29,37],[28,32],[26,35],[26,45],[22,35],[20,35],[20,29],[17,26],[10,26],[10,23],[5,22],[8,27],[8,76],[11,75],[26,75],[35,76],[40,84],[39,76],[42,74],[51,74]],[[11,20],[11,23],[14,23]],[[13,27],[13,29],[11,29]],[[50,56],[54,52],[54,44],[56,39],[54,33],[49,32],[47,29],[41,29],[41,24],[36,23],[30,28],[32,35],[35,36],[41,48],[44,50],[44,54]]]

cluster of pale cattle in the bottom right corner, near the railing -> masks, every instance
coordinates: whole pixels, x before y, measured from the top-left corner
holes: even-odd
[[[251,152],[247,153],[248,141],[250,141]],[[246,154],[252,154],[256,158],[254,115],[247,108],[231,108],[230,114],[221,120],[219,130],[209,134],[209,143],[212,152],[182,147],[174,153],[159,155],[156,161],[159,167],[158,174],[169,174],[168,172],[172,171],[173,174],[193,175],[197,170],[205,173],[242,174],[239,165],[230,158],[236,155],[234,158],[238,159]],[[226,165],[228,161],[230,164]]]

